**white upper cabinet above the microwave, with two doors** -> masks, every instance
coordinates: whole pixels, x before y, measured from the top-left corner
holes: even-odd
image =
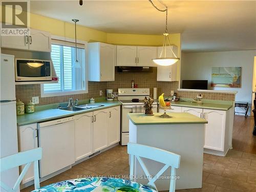
[[[51,33],[30,29],[25,36],[1,36],[1,47],[51,52]]]

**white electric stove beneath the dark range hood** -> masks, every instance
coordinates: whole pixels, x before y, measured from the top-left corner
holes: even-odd
[[[129,142],[129,119],[128,113],[133,113],[134,106],[144,105],[143,99],[150,96],[149,88],[119,88],[118,100],[122,103],[121,108],[121,145]],[[139,99],[133,102],[132,99]],[[153,103],[153,112],[157,112],[157,102]]]

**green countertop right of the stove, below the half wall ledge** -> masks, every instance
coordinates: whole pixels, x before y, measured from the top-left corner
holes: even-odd
[[[210,110],[228,111],[233,106],[233,101],[216,101],[202,100],[203,104],[191,103],[192,99],[184,99],[184,101],[170,101],[173,106],[185,106],[188,108],[202,108]]]

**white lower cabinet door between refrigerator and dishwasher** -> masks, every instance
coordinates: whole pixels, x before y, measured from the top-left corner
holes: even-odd
[[[36,123],[18,127],[18,144],[19,144],[19,152],[32,150],[33,148],[38,147]],[[20,166],[20,173],[23,168],[24,168],[24,165]],[[34,179],[34,169],[33,169],[33,165],[31,165],[28,169],[28,172],[26,173],[26,175],[22,180],[22,184],[27,183],[33,179]]]

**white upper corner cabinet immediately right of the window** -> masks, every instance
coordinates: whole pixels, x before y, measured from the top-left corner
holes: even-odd
[[[88,44],[89,81],[114,81],[116,46],[103,42]]]

